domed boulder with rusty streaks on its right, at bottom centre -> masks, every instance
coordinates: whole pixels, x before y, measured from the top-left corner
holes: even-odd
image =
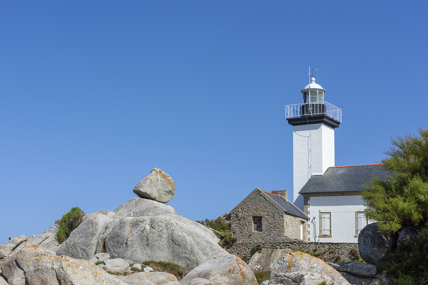
[[[184,276],[180,284],[189,285],[195,278],[205,278],[211,285],[258,285],[247,263],[234,255],[204,261]]]

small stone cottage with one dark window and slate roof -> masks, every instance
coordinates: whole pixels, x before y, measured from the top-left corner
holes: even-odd
[[[288,201],[288,191],[254,189],[231,212],[232,235],[238,242],[308,240],[309,217]]]

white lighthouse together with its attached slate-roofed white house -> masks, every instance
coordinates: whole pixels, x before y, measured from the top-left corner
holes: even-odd
[[[293,126],[293,201],[308,217],[308,241],[354,242],[371,221],[364,215],[361,185],[382,165],[335,166],[334,129],[342,110],[324,100],[326,90],[311,83],[300,91],[300,104],[285,106]]]

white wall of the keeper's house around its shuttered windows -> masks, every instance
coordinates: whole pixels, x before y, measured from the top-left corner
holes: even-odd
[[[361,196],[311,197],[309,204],[311,226],[308,237],[310,241],[358,242],[358,236],[355,235],[355,212],[365,209]],[[331,212],[331,237],[318,237],[320,210],[321,212]]]

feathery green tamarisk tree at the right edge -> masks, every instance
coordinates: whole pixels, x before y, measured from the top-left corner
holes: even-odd
[[[391,138],[392,145],[381,160],[389,175],[373,177],[363,185],[366,215],[380,222],[383,233],[428,222],[428,129],[418,128],[418,132]]]

